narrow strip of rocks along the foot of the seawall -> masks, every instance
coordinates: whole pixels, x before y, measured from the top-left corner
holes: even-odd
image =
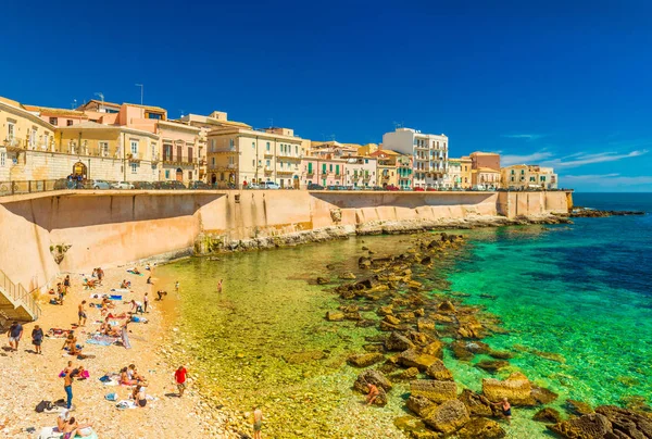
[[[429,230],[467,230],[485,227],[525,226],[537,224],[572,224],[572,221],[567,217],[552,214],[538,216],[517,216],[515,218],[507,218],[505,216],[476,215],[465,218],[439,218],[435,221],[378,221],[364,223],[359,226],[339,225],[314,230],[234,241],[226,241],[222,235],[202,234],[195,241],[193,252],[196,255],[211,255],[238,251],[275,249],[311,242],[325,242],[334,239],[346,239],[355,235],[400,235]]]

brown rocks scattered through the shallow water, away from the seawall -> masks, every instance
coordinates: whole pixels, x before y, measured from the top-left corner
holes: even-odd
[[[379,394],[375,404],[385,405],[392,398],[394,382],[408,382],[410,397],[405,401],[412,413],[394,419],[394,425],[409,437],[426,438],[502,438],[505,429],[497,405],[507,398],[516,407],[539,407],[534,421],[563,438],[651,438],[650,407],[620,409],[611,405],[594,411],[585,403],[568,400],[566,416],[547,406],[559,396],[538,387],[521,372],[505,379],[484,378],[481,391],[461,389],[453,373],[442,362],[443,351],[475,364],[490,374],[510,367],[513,352],[496,351],[481,340],[503,331],[496,316],[476,306],[464,305],[459,299],[430,297],[427,276],[437,260],[455,256],[465,244],[462,236],[440,234],[418,236],[412,247],[393,255],[361,256],[363,273],[340,273],[340,285],[333,288],[341,305],[326,314],[328,322],[354,321],[356,326],[376,326],[379,336],[368,337],[364,352],[351,354],[352,367],[364,368],[353,382],[354,391],[366,393],[375,385]],[[327,267],[331,269],[333,267]],[[321,277],[317,284],[328,279]],[[378,318],[364,318],[361,312],[375,311]],[[387,334],[384,335],[383,333]],[[544,353],[541,353],[544,354]],[[462,392],[460,393],[460,390]]]

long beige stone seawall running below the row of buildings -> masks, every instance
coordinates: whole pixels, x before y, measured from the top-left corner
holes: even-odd
[[[352,234],[502,225],[566,213],[567,192],[58,191],[0,199],[0,268],[61,272]],[[543,215],[543,216],[542,216]],[[58,262],[59,261],[59,262]]]

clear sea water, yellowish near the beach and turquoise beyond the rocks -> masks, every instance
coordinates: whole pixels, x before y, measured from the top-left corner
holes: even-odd
[[[650,195],[575,195],[578,205],[652,212]],[[652,216],[579,218],[574,225],[505,227],[464,231],[469,244],[456,262],[426,274],[448,278],[465,303],[502,318],[507,334],[486,339],[516,354],[511,371],[566,398],[625,405],[631,397],[652,403]],[[364,410],[351,391],[359,371],[346,358],[361,352],[374,327],[328,323],[339,303],[316,276],[337,281],[356,274],[362,246],[378,254],[399,252],[409,237],[383,236],[252,253],[220,261],[191,259],[158,268],[163,283],[181,281],[177,341],[192,352],[191,367],[211,396],[234,410],[265,404],[269,437],[402,437],[392,425],[405,415],[406,388],[392,390],[385,409]],[[326,264],[335,264],[333,271]],[[224,278],[224,292],[216,281]],[[367,318],[377,318],[366,313]],[[288,355],[321,353],[306,362]],[[323,354],[323,355],[322,355]],[[462,387],[480,389],[490,375],[469,363],[444,362]],[[546,437],[516,410],[505,426],[511,438]]]

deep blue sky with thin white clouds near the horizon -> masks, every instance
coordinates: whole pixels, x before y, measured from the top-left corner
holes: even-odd
[[[447,134],[451,156],[652,191],[649,1],[10,1],[2,16],[0,96],[23,103],[138,102],[139,83],[172,117],[361,143],[402,123]]]

